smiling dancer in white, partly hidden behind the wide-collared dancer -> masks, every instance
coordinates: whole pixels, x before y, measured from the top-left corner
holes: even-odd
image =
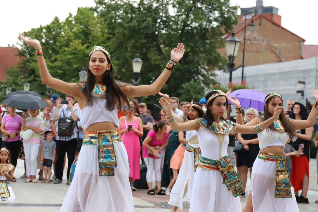
[[[168,95],[159,93],[165,98],[169,98]],[[191,101],[189,105],[189,115],[187,119],[184,119],[180,116],[174,115],[178,123],[185,123],[190,120],[201,118],[204,115],[202,106],[199,103],[193,103]],[[172,108],[170,108],[170,111]],[[171,111],[172,113],[172,111]],[[194,178],[195,170],[197,169],[197,161],[200,153],[199,141],[197,138],[197,131],[191,130],[186,133],[187,144],[184,151],[182,165],[176,180],[176,183],[173,185],[169,204],[173,205],[173,211],[176,211],[178,207],[180,210],[183,209],[182,202],[191,200],[192,192],[192,183]]]

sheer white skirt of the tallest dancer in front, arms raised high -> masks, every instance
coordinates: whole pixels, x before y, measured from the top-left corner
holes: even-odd
[[[114,176],[99,176],[98,146],[83,145],[61,212],[135,211],[128,180],[129,164],[122,142],[114,143]]]

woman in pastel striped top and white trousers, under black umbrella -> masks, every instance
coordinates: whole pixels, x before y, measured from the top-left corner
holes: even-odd
[[[44,130],[44,120],[38,116],[38,109],[31,109],[30,113],[31,117],[25,119],[25,116],[23,116],[22,120],[23,125],[25,126],[24,130],[31,129],[33,131],[30,140],[22,140],[25,155],[26,175],[29,176],[25,182],[33,181],[34,183],[37,183],[37,157],[40,147],[40,133]]]

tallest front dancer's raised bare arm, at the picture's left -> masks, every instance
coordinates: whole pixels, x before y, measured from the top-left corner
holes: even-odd
[[[26,44],[33,46],[35,48],[34,51],[42,50],[41,44],[38,40],[33,40],[31,38],[26,39],[22,34],[20,34],[20,38]],[[50,88],[56,91],[74,96],[76,99],[79,99],[81,96],[83,96],[82,92],[79,90],[78,85],[76,83],[67,83],[60,79],[52,77],[47,69],[43,56],[38,57],[38,66],[43,84],[49,86]]]

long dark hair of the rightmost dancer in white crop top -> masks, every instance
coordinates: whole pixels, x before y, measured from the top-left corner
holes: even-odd
[[[270,94],[271,94],[271,93],[270,93]],[[265,99],[266,99],[270,94],[268,94],[268,95],[265,97]],[[276,99],[276,98],[279,98],[279,99],[281,100],[281,102],[283,102],[283,99],[280,98],[280,96],[271,96],[270,98],[268,98],[267,101],[266,101],[265,104],[264,104],[264,113],[262,114],[262,115],[264,115],[264,120],[267,120],[267,119],[269,119],[269,118],[271,118],[271,117],[273,116],[273,115],[271,115],[271,114],[268,112],[268,109],[267,109],[267,108],[268,108],[269,103],[270,103],[272,100],[274,101],[274,99]],[[266,105],[267,108],[265,107],[265,105]],[[286,130],[288,136],[289,136],[290,138],[294,137],[294,136],[295,136],[295,130],[293,129],[292,124],[291,124],[291,123],[287,120],[287,118],[285,117],[284,111],[282,111],[282,112],[280,113],[279,119],[280,119],[280,122],[282,123],[283,127],[285,128],[285,130]],[[274,128],[274,123],[272,123],[268,128],[269,128],[270,130],[274,131],[274,130],[275,130],[275,128]]]

